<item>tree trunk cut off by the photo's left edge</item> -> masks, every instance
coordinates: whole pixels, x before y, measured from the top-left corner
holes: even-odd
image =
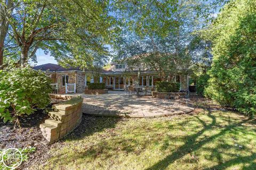
[[[7,9],[13,7],[12,0],[6,1]],[[4,55],[4,40],[7,35],[9,23],[5,20],[5,16],[3,13],[0,14],[0,65],[3,65],[3,55]]]

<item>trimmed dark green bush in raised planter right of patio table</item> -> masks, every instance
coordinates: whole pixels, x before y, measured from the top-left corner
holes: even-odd
[[[180,83],[158,81],[156,82],[156,91],[158,92],[178,92],[180,89]]]

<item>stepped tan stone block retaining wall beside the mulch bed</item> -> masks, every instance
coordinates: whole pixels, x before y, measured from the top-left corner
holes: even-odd
[[[52,106],[54,112],[49,112],[51,118],[40,125],[47,141],[53,143],[61,139],[81,123],[82,103],[83,98],[73,97],[68,101]]]

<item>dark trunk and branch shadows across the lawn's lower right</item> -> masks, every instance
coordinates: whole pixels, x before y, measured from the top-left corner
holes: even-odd
[[[210,137],[206,137],[203,140],[197,141],[198,137],[200,137],[205,131],[211,130],[214,126],[218,126],[216,124],[216,117],[209,112],[207,116],[211,117],[211,123],[206,124],[203,120],[201,120],[198,116],[194,116],[197,118],[197,120],[204,126],[204,129],[197,132],[196,134],[189,135],[187,136],[187,141],[184,145],[181,147],[177,148],[176,151],[172,152],[172,154],[166,156],[164,159],[160,160],[153,166],[147,168],[147,170],[158,170],[158,169],[166,169],[170,164],[174,163],[175,160],[178,160],[182,158],[184,155],[189,154],[190,152],[196,151],[199,148],[201,148],[203,145],[206,143],[209,143],[213,141],[214,139],[220,137],[221,135],[225,134],[226,132],[236,128],[237,126],[241,126],[243,123],[248,122],[250,119],[243,120],[238,123],[230,123],[223,127],[218,134],[211,135]],[[214,150],[212,151],[214,152]],[[205,168],[205,169],[224,169],[227,168],[231,165],[234,164],[250,164],[249,166],[245,167],[244,169],[254,169],[256,167],[255,159],[256,159],[256,154],[252,154],[251,156],[246,156],[246,157],[237,157],[231,160],[228,160],[228,162],[222,163],[221,162],[221,155],[215,156],[218,159],[219,164],[210,168]]]

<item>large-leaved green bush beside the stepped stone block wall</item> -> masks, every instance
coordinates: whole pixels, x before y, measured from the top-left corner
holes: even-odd
[[[34,113],[50,103],[51,80],[29,66],[0,71],[0,117],[4,122]]]

